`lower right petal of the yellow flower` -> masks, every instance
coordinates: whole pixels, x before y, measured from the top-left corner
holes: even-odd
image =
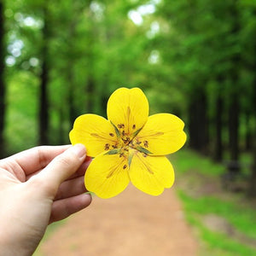
[[[137,151],[129,170],[131,183],[149,195],[160,195],[174,182],[172,164],[166,156],[150,156]]]

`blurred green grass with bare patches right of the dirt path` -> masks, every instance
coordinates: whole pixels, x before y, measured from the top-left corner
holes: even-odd
[[[181,150],[171,160],[176,170],[177,194],[200,241],[200,255],[256,255],[255,209],[245,194],[221,187],[219,177],[225,172],[224,166],[189,150]],[[209,190],[210,186],[213,189]],[[209,228],[207,216],[224,219],[223,226]]]

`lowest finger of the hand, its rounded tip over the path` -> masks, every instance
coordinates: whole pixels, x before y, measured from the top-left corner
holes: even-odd
[[[89,194],[76,195],[59,201],[55,201],[52,205],[52,212],[49,218],[49,224],[63,218],[67,218],[74,212],[88,207],[91,202]]]

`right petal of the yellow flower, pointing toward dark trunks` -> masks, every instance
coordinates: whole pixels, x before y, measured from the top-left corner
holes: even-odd
[[[156,155],[172,154],[183,147],[186,134],[184,123],[171,113],[157,113],[148,117],[136,137],[137,143]]]

